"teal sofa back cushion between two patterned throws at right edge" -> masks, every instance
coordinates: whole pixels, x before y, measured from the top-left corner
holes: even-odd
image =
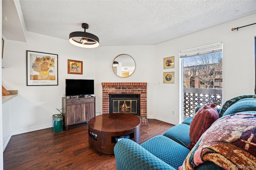
[[[256,100],[244,100],[234,103],[224,112],[222,117],[244,111],[256,111]]]

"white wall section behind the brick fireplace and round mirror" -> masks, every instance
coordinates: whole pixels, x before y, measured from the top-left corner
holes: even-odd
[[[112,62],[117,55],[128,54],[135,61],[135,71],[129,77],[118,77],[112,70]],[[103,82],[146,82],[147,86],[147,115],[154,117],[154,45],[109,46],[98,47],[95,61],[95,95],[96,111],[102,113]]]

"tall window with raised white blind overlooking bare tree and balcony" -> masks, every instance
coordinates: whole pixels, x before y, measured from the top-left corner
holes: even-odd
[[[180,51],[182,120],[198,106],[222,101],[222,43]]]

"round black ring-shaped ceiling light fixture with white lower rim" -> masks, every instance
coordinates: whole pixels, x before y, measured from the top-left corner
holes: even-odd
[[[69,34],[69,42],[73,45],[83,48],[95,48],[100,45],[100,40],[94,34],[86,32],[89,28],[88,24],[82,23],[84,32],[72,32]]]

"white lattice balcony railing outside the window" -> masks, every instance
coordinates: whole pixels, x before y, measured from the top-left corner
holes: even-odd
[[[184,88],[183,116],[192,117],[195,114],[196,107],[213,102],[219,103],[217,107],[221,108],[222,89]]]

